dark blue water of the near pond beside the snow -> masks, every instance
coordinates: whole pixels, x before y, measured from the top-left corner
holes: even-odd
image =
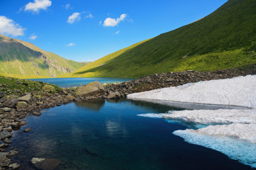
[[[142,101],[94,101],[50,108],[14,132],[10,147],[21,169],[35,169],[32,157],[57,158],[57,169],[161,170],[251,169],[212,149],[172,134],[186,129],[162,119],[137,116],[179,110]],[[22,132],[25,128],[31,132]]]

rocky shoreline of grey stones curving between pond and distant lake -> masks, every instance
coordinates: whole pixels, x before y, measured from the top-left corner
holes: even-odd
[[[18,169],[9,157],[18,154],[18,150],[9,148],[12,130],[20,130],[26,125],[28,115],[40,116],[41,110],[61,106],[75,101],[93,101],[102,98],[124,98],[128,94],[149,91],[169,86],[211,79],[227,79],[232,77],[256,74],[256,64],[241,69],[224,69],[213,72],[176,72],[152,74],[148,77],[126,81],[119,84],[100,84],[98,81],[78,88],[60,89],[58,86],[28,80],[0,77],[0,169]],[[2,84],[11,81],[14,84]],[[31,86],[33,84],[33,87]],[[36,84],[36,85],[35,85]],[[16,89],[16,87],[21,88]],[[23,132],[29,132],[27,128]],[[48,160],[48,159],[47,159]]]

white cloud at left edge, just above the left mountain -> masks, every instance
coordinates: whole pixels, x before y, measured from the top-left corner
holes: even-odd
[[[0,16],[0,33],[4,35],[24,35],[25,28],[22,28],[18,23],[6,18],[6,16]]]

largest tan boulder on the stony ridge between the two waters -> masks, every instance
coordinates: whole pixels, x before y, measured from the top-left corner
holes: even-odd
[[[93,81],[90,84],[81,86],[75,89],[76,96],[93,96],[96,94],[104,93],[105,88],[100,84],[99,81]]]

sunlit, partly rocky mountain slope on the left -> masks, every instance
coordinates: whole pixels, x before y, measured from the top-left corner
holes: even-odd
[[[9,77],[55,77],[86,63],[66,60],[39,47],[0,35],[0,75]]]

